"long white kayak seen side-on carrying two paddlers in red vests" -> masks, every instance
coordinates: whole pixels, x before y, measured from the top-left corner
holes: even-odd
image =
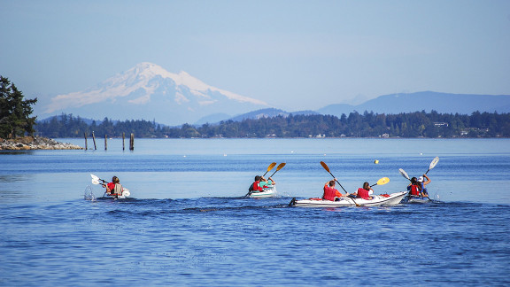
[[[301,207],[347,207],[347,206],[396,206],[402,201],[407,191],[391,194],[372,195],[372,199],[363,198],[337,198],[336,201],[323,200],[322,198],[300,199],[292,198],[289,206]]]

